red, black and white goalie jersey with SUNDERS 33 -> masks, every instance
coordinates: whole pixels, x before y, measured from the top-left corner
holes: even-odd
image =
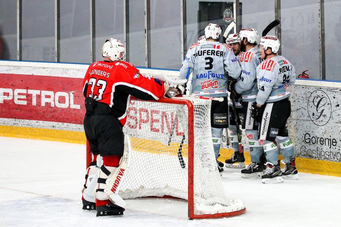
[[[123,61],[92,63],[83,80],[83,95],[108,104],[124,126],[130,96],[158,100],[164,95],[162,81],[140,74],[132,64]]]

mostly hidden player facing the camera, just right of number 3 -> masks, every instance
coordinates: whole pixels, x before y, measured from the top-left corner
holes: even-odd
[[[234,33],[234,34],[230,34],[227,39],[226,39],[226,43],[232,48],[233,53],[235,54],[235,56],[238,58],[238,62],[240,62],[240,57],[243,55],[244,52],[240,51],[240,46],[241,46],[241,41],[242,38],[239,36],[238,33]],[[230,91],[229,91],[229,95],[231,97]],[[241,98],[241,96],[239,96]],[[241,99],[239,100],[235,100],[235,104],[236,104],[236,114],[237,114],[237,121],[239,121],[239,125],[241,124],[240,119],[242,118],[242,112],[243,112],[243,106],[241,104]],[[237,134],[237,126],[236,126],[236,121],[234,119],[234,114],[233,114],[233,104],[231,101],[231,98],[229,98],[229,128],[228,128],[228,132],[229,132],[229,139],[230,142],[232,144],[233,150],[236,153],[239,153],[239,146],[238,146],[238,134]],[[238,129],[239,130],[239,129]],[[241,131],[240,131],[240,135],[241,135]],[[233,158],[234,156],[232,156]],[[236,163],[236,160],[232,161],[232,159],[229,159],[230,161],[228,161],[229,163],[226,164],[226,167],[229,168],[244,168],[245,164],[245,158],[244,158],[244,154],[238,154],[239,157],[239,161]]]

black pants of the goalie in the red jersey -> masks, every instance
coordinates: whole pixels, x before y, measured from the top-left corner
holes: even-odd
[[[96,103],[93,113],[84,117],[84,130],[94,155],[123,155],[122,125],[108,105]]]

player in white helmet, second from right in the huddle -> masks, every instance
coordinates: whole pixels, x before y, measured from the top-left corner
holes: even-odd
[[[240,31],[239,36],[242,38],[242,45],[245,46],[246,52],[240,56],[240,65],[242,67],[241,79],[231,82],[230,89],[231,92],[242,95],[244,116],[242,128],[245,128],[246,137],[249,140],[251,163],[241,172],[242,177],[250,178],[252,176],[261,176],[264,169],[263,161],[260,158],[263,153],[263,148],[257,140],[259,123],[250,114],[251,105],[256,100],[258,93],[256,68],[261,63],[261,59],[257,48],[258,32],[255,29],[246,28]],[[235,144],[237,145],[237,143]],[[244,155],[242,156],[241,153],[234,152],[231,159],[227,159],[225,162],[226,166],[229,166],[235,162],[240,163],[244,160]]]

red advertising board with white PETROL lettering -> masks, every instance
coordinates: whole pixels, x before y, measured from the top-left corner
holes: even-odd
[[[83,124],[81,78],[0,74],[0,118]]]

